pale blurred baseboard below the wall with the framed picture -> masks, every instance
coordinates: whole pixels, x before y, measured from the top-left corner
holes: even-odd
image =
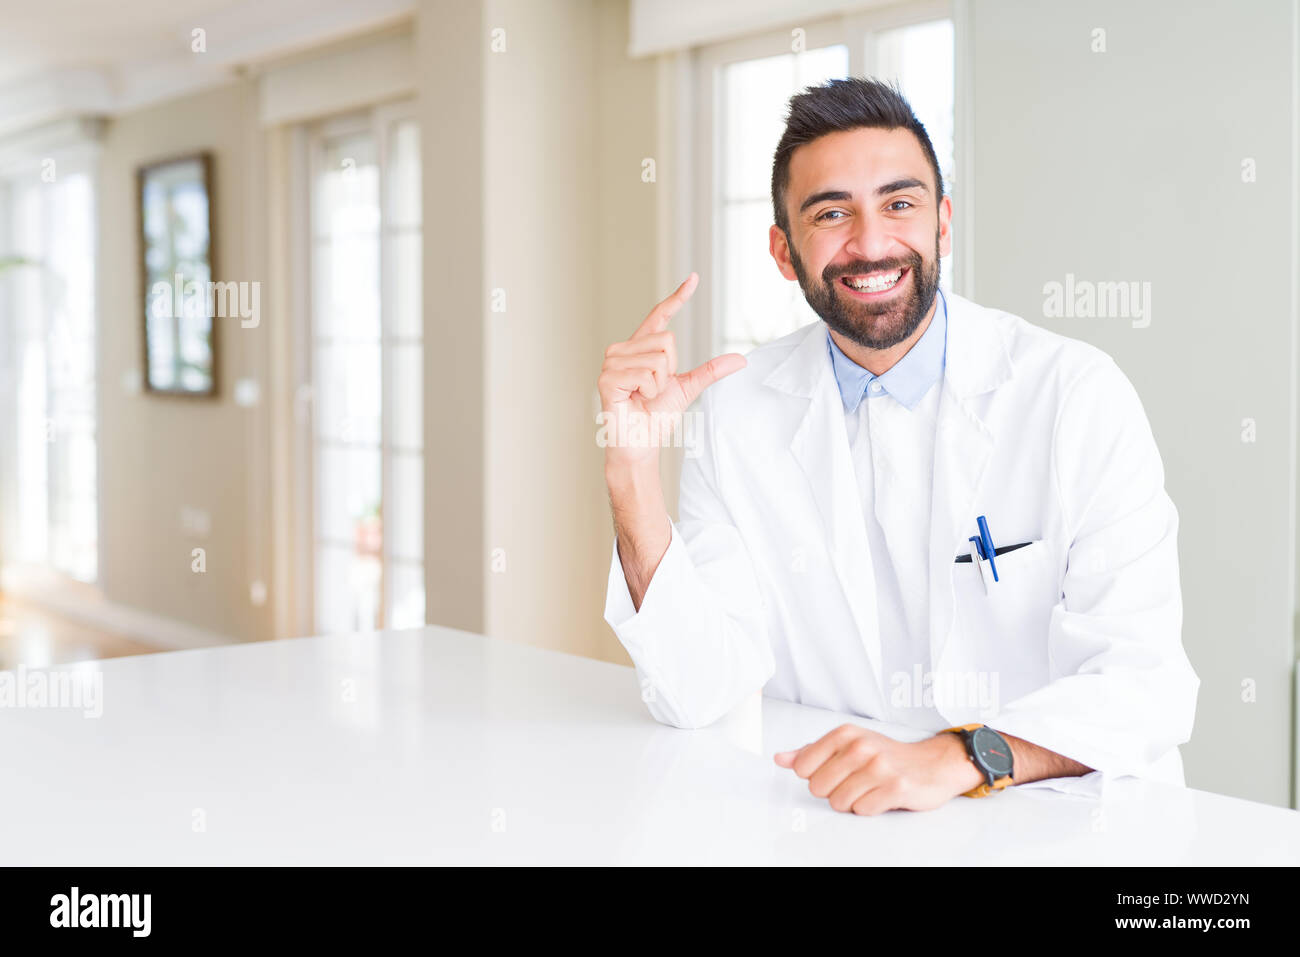
[[[44,580],[42,580],[44,577]],[[159,651],[185,651],[195,648],[237,645],[239,641],[204,628],[177,622],[152,611],[108,601],[92,585],[62,583],[29,575],[12,567],[0,568],[0,589],[79,624],[131,638]]]

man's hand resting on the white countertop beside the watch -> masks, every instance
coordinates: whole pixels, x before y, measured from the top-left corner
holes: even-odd
[[[907,744],[841,724],[798,750],[775,755],[781,767],[807,779],[815,797],[837,811],[880,814],[928,811],[984,783],[958,735]]]

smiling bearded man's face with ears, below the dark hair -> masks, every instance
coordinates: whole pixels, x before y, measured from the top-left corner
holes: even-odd
[[[952,200],[907,130],[831,133],[790,157],[790,239],[772,226],[781,274],[798,280],[831,329],[867,348],[910,337],[939,289],[952,247]]]

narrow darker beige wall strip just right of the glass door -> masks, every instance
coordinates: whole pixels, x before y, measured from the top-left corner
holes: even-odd
[[[478,3],[422,0],[425,611],[474,632],[486,622],[484,46]]]

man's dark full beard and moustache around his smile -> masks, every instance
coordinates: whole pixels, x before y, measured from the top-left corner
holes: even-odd
[[[803,298],[831,329],[866,348],[889,348],[907,339],[935,304],[939,291],[939,233],[935,233],[935,259],[926,263],[919,252],[909,259],[887,259],[879,263],[857,261],[827,267],[822,283],[809,281],[794,246],[789,246],[790,263],[800,280]],[[846,302],[835,290],[841,276],[861,276],[881,269],[911,269],[911,291],[894,303]]]

